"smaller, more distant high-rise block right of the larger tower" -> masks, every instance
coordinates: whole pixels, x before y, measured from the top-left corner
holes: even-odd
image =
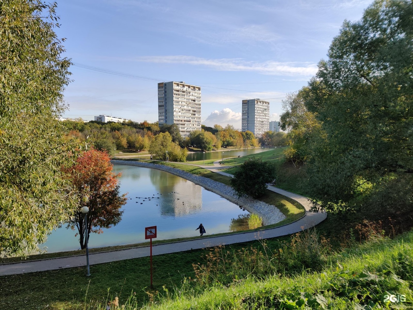
[[[242,100],[242,131],[260,137],[269,129],[270,103],[260,99]]]

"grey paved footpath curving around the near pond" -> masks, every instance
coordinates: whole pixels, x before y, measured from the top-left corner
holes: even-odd
[[[131,162],[125,161],[114,161],[116,163],[130,165]],[[232,176],[231,174],[221,172],[218,169],[228,168],[221,167],[218,165],[219,161],[214,162],[214,166],[202,166],[199,167],[209,169],[216,173]],[[138,162],[139,163],[139,162]],[[133,164],[135,165],[135,163]],[[142,165],[142,167],[148,167],[147,165]],[[165,166],[163,166],[165,167]],[[198,176],[201,178],[200,176]],[[206,178],[205,178],[206,179]],[[256,239],[266,239],[274,238],[285,235],[290,235],[302,231],[304,229],[311,228],[327,217],[324,212],[310,212],[311,203],[309,199],[304,196],[300,196],[289,191],[284,191],[280,188],[274,186],[268,186],[270,191],[279,193],[281,195],[287,196],[299,202],[306,209],[306,214],[295,222],[290,224],[285,224],[283,226],[263,229],[259,231],[251,231],[238,234],[229,234],[223,236],[211,236],[211,237],[200,237],[197,239],[178,241],[173,243],[163,243],[152,246],[152,255],[161,255],[168,253],[182,252],[192,249],[201,249],[213,246],[219,246],[231,243],[240,243],[247,241],[254,241]],[[114,250],[100,253],[89,254],[90,265],[102,264],[105,262],[113,262],[117,260],[127,260],[131,258],[140,258],[149,256],[149,246],[142,246],[138,248],[128,248],[123,250]],[[8,264],[0,264],[0,276],[9,274],[21,274],[27,272],[38,272],[46,270],[55,270],[61,268],[71,268],[71,267],[81,267],[86,265],[85,255],[68,256],[62,258],[52,258],[47,260],[32,260],[27,262],[16,262]]]

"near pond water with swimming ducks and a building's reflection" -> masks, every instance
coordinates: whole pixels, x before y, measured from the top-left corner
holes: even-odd
[[[145,242],[145,227],[155,225],[157,240],[199,236],[195,229],[200,223],[209,234],[246,229],[247,211],[179,176],[116,164],[113,172],[122,172],[120,192],[127,192],[129,200],[123,206],[119,224],[103,229],[102,234],[90,235],[90,248]],[[77,250],[80,246],[75,234],[64,225],[53,231],[40,248],[46,246],[48,253]]]

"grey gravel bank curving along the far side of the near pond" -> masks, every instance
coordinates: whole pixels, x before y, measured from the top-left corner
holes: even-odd
[[[206,188],[208,191],[220,195],[221,197],[225,198],[226,200],[229,200],[232,203],[235,203],[236,205],[239,205],[240,207],[243,207],[249,213],[255,213],[259,215],[260,217],[262,217],[263,225],[276,224],[285,219],[285,215],[283,215],[277,207],[273,205],[268,205],[267,203],[256,200],[254,198],[239,198],[230,186],[205,178],[203,176],[197,176],[195,174],[185,172],[180,169],[164,165],[156,165],[149,162],[132,162],[123,160],[111,160],[111,162],[114,164],[159,169],[180,176],[184,179],[187,179],[188,181],[191,181],[195,184],[198,184]]]

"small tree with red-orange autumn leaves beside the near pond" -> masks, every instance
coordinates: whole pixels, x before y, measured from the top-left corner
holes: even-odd
[[[79,198],[74,217],[67,221],[68,227],[78,231],[79,243],[83,249],[91,232],[101,233],[102,228],[110,228],[121,221],[123,211],[120,209],[126,204],[127,198],[126,194],[119,193],[120,174],[112,173],[112,164],[106,152],[92,148],[78,157],[73,166],[64,170]],[[83,206],[89,208],[87,228],[85,215],[81,212]]]

